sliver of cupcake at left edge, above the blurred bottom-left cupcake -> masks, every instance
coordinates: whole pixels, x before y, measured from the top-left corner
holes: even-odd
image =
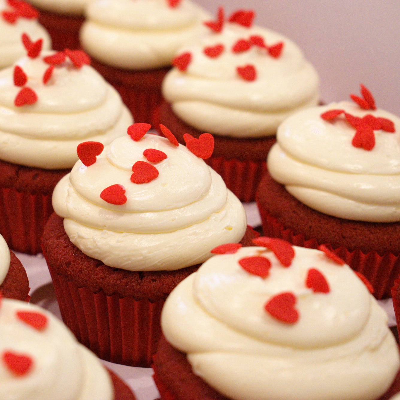
[[[28,301],[28,293],[25,268],[0,235],[0,297]]]

